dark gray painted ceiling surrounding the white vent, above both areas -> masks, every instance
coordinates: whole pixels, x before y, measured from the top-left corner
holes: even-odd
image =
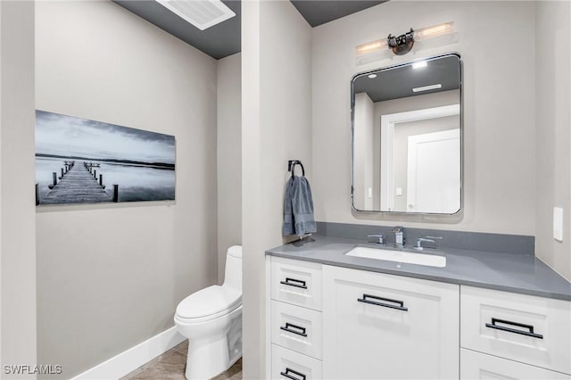
[[[194,25],[184,21],[155,1],[113,1],[217,60],[241,51],[242,6],[240,0],[222,0],[222,3],[236,13],[236,17],[204,30],[195,28]],[[385,1],[291,0],[291,3],[311,27],[316,27],[368,7],[385,3]]]

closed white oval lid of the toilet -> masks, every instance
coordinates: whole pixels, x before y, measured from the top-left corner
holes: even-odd
[[[180,318],[203,318],[221,311],[236,309],[242,303],[242,292],[225,286],[212,285],[190,294],[178,304]]]

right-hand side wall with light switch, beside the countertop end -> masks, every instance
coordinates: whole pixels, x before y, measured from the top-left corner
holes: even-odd
[[[535,28],[535,251],[571,281],[571,4],[538,2]],[[554,206],[563,208],[563,242],[553,239]]]

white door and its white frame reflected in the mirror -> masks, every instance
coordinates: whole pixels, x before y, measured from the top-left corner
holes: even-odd
[[[438,98],[450,101],[454,92]],[[380,211],[459,210],[459,113],[457,103],[381,115]]]

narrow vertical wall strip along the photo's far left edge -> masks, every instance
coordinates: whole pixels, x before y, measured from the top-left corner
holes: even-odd
[[[0,2],[0,364],[36,363],[34,4]],[[2,367],[0,366],[0,367]],[[2,378],[35,378],[0,373]]]

